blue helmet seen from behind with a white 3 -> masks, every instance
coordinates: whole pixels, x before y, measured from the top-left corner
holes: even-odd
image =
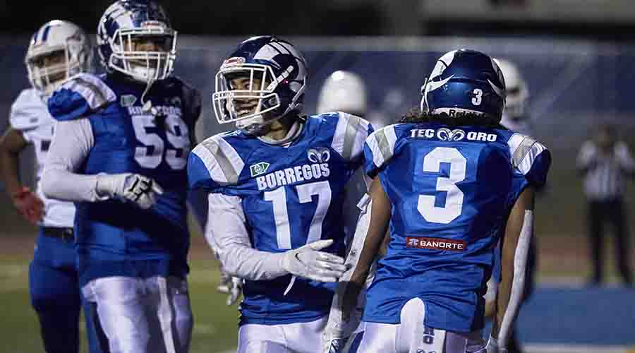
[[[421,112],[430,115],[476,114],[500,121],[505,105],[505,81],[498,64],[475,50],[441,56],[421,93]]]

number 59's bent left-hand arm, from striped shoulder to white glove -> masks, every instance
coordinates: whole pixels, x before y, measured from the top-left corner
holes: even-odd
[[[85,175],[78,172],[95,143],[90,116],[99,114],[115,99],[114,92],[101,80],[85,74],[75,76],[61,90],[54,92],[48,106],[59,122],[44,165],[44,195],[73,202],[116,198],[141,208],[150,208],[157,202],[162,189],[140,174]]]

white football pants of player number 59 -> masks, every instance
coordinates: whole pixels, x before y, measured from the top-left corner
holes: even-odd
[[[103,277],[82,288],[111,353],[186,353],[193,317],[179,277]]]

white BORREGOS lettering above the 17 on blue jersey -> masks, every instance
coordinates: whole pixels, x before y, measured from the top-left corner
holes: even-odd
[[[313,179],[328,177],[331,174],[328,163],[297,165],[292,168],[277,170],[256,178],[258,191],[275,189],[278,186],[301,183]]]

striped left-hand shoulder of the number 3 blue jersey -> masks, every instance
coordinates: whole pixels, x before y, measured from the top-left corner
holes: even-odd
[[[388,125],[373,132],[366,138],[364,146],[365,171],[374,175],[394,155],[394,145],[397,143],[395,125]]]

